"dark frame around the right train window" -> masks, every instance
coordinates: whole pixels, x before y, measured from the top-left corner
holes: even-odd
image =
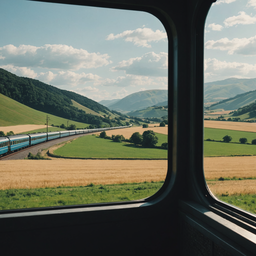
[[[210,211],[220,215],[229,221],[236,223],[237,225],[245,228],[256,234],[256,215],[238,208],[234,205],[228,204],[216,198],[209,190],[203,171],[203,98],[204,98],[204,30],[205,20],[207,13],[210,9],[212,2],[216,0],[209,0],[202,3],[198,12],[203,13],[198,15],[195,20],[195,29],[193,33],[194,55],[197,56],[195,65],[192,65],[193,70],[191,73],[194,74],[193,86],[191,90],[192,102],[191,111],[194,116],[190,132],[190,137],[193,142],[190,145],[190,152],[193,152],[193,166],[190,171],[190,178],[193,182],[194,201],[201,203]],[[200,114],[194,114],[200,113]],[[200,141],[200,143],[198,143]],[[194,153],[196,152],[196,154]],[[196,187],[196,188],[195,188]],[[196,191],[197,190],[197,191]]]

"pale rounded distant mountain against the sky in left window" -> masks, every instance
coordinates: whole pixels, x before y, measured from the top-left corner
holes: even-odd
[[[155,105],[167,99],[168,90],[143,90],[132,93],[108,107],[119,112],[134,111]]]

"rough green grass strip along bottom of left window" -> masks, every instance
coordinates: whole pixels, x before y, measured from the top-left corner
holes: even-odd
[[[73,187],[0,190],[0,210],[57,205],[128,201],[148,197],[163,181]]]

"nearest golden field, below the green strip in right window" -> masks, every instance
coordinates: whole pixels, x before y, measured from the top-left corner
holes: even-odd
[[[204,157],[203,161],[205,179],[256,176],[256,156]]]

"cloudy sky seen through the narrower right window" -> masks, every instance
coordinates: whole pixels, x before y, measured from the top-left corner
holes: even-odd
[[[204,82],[256,77],[256,0],[217,0],[204,32]]]

